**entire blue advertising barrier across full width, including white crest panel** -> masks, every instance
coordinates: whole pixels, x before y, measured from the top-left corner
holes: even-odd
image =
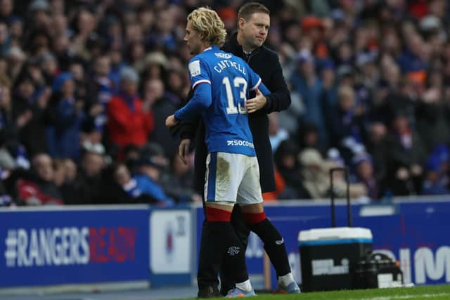
[[[338,226],[347,222],[336,205]],[[373,248],[401,262],[406,282],[450,282],[450,200],[399,200],[352,205],[354,226],[370,228]],[[278,202],[266,214],[281,231],[300,282],[300,230],[330,227],[328,202]],[[375,214],[375,216],[373,216]],[[147,280],[191,285],[195,279],[203,208],[146,205],[0,209],[0,289]],[[252,234],[246,258],[262,277],[263,247]],[[274,270],[272,285],[276,283]],[[254,276],[255,278],[255,276]]]

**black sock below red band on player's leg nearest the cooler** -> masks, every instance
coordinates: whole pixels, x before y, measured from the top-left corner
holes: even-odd
[[[264,249],[272,265],[274,265],[276,275],[283,276],[290,273],[288,254],[283,237],[271,221],[266,218],[259,223],[249,224],[249,226],[264,242]]]

